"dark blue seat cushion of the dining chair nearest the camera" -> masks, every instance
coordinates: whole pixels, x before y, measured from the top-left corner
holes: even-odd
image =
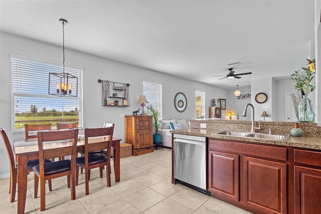
[[[65,172],[70,170],[71,161],[70,160],[62,160],[51,163],[45,163],[45,175],[52,175],[60,172]],[[40,169],[39,165],[32,167],[32,170],[39,175]]]

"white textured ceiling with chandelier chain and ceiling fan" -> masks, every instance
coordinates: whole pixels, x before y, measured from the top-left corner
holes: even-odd
[[[223,88],[288,76],[314,41],[314,1],[1,1],[0,12],[3,32],[61,46],[64,18],[66,48]],[[237,61],[253,74],[212,77]]]

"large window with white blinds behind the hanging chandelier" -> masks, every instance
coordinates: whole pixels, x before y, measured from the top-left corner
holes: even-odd
[[[83,68],[65,66],[78,77],[78,97],[48,94],[49,73],[63,73],[63,67],[44,60],[11,54],[12,70],[12,128],[24,130],[25,124],[78,123],[83,126],[82,72]]]

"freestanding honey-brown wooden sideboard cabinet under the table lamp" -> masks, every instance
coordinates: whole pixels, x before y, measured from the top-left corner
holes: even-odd
[[[153,152],[152,116],[125,116],[125,141],[132,145],[134,156]]]

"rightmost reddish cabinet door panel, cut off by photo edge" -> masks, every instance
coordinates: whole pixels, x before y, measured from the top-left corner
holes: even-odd
[[[295,213],[320,213],[321,170],[294,166]]]

